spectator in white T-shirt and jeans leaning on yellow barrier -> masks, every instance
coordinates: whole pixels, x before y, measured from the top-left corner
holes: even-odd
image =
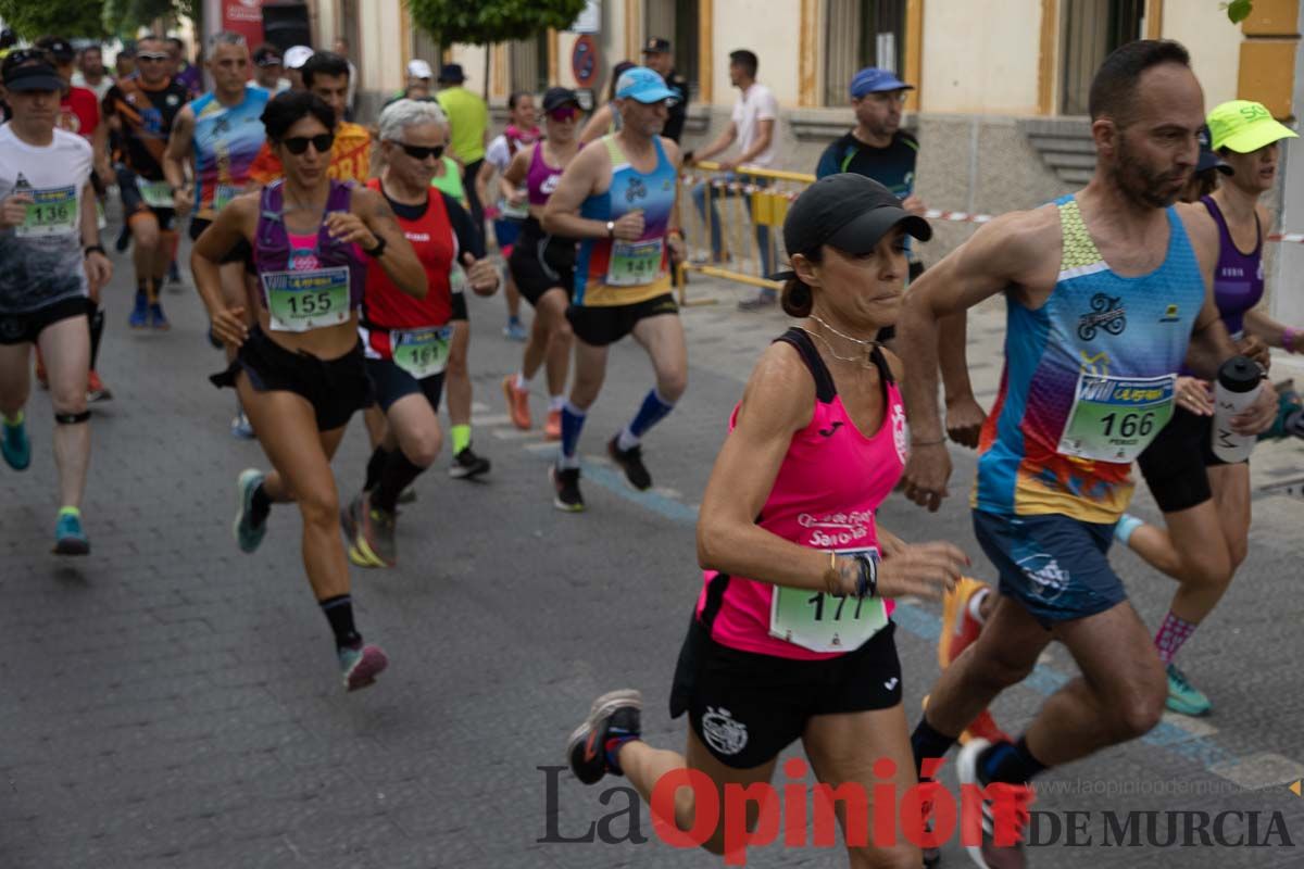
[[[778,102],[768,87],[756,82],[756,66],[759,61],[754,52],[746,48],[729,52],[729,81],[741,94],[734,103],[733,116],[720,135],[711,145],[685,155],[685,163],[696,160],[709,160],[716,154],[728,150],[735,141],[738,154],[734,158],[720,162],[720,168],[728,175],[726,180],[742,180],[747,184],[764,186],[765,178],[747,176],[741,178],[734,171],[742,165],[767,168],[775,162],[775,124],[778,120]],[[711,193],[711,258],[713,262],[724,262],[724,240],[720,237],[720,212],[716,208],[716,199],[729,195],[726,190],[712,190]],[[698,214],[705,219],[707,215],[707,185],[699,184],[692,189],[692,202],[698,206]],[[747,197],[748,210],[751,197]],[[756,233],[756,249],[760,251],[760,274],[767,275],[775,270],[772,257],[769,227],[754,227]],[[768,293],[768,296],[765,294]],[[763,292],[764,305],[775,304],[773,291]],[[755,302],[745,302],[747,307],[755,307]]]

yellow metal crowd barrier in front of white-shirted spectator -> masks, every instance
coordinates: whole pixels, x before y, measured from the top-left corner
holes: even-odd
[[[694,271],[712,278],[780,289],[781,284],[765,278],[788,262],[782,249],[784,218],[802,190],[815,182],[806,172],[784,172],[738,167],[722,172],[720,164],[702,160],[679,173],[677,208],[683,229],[687,262],[678,266],[679,305],[711,305],[713,298],[689,300],[686,272]],[[703,188],[705,215],[699,214],[694,189]],[[720,215],[720,233],[716,238],[711,227],[711,207]],[[769,241],[769,263],[763,263],[756,232]],[[713,257],[715,242],[720,242],[721,258]]]

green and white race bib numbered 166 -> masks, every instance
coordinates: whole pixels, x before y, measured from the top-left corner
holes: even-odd
[[[1134,461],[1172,417],[1176,383],[1176,374],[1157,378],[1080,374],[1059,452],[1095,461]]]

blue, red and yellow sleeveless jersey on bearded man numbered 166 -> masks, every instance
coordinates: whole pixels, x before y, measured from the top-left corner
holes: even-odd
[[[1132,498],[1131,460],[1065,455],[1077,430],[1071,417],[1077,403],[1099,400],[1098,431],[1112,426],[1118,434],[1121,422],[1131,426],[1125,434],[1140,431],[1146,442],[1158,434],[1167,413],[1128,413],[1127,405],[1153,406],[1145,403],[1163,388],[1148,379],[1171,378],[1181,367],[1205,281],[1175,208],[1167,208],[1163,263],[1124,278],[1101,257],[1077,201],[1069,195],[1055,205],[1059,280],[1037,310],[1007,293],[1005,370],[983,426],[973,506],[1005,516],[1115,522]]]

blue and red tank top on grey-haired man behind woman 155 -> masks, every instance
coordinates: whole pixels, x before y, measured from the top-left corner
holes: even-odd
[[[262,109],[270,94],[256,85],[245,96],[223,106],[213,91],[190,103],[194,111],[194,202],[197,216],[211,220],[249,182],[249,167],[266,133]]]

